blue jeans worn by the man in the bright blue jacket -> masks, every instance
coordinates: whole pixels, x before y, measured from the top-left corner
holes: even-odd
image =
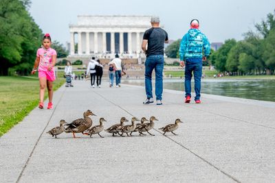
[[[201,97],[201,73],[202,73],[202,62],[192,63],[185,62],[185,97],[188,95],[191,97],[191,79],[192,72],[194,73],[195,80],[195,100],[198,100]]]

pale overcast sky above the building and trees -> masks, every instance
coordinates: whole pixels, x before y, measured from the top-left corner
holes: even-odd
[[[181,38],[190,20],[199,19],[210,42],[223,42],[243,39],[274,9],[274,0],[32,0],[30,14],[43,33],[63,44],[69,42],[69,24],[83,14],[159,16],[170,40]]]

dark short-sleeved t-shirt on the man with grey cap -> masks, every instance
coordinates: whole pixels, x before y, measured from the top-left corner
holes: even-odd
[[[164,29],[152,27],[144,32],[143,39],[148,40],[146,56],[164,55],[164,42],[168,40],[168,34]]]

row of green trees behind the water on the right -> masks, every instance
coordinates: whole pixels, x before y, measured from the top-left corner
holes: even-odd
[[[275,10],[267,19],[255,25],[256,32],[243,34],[244,39],[225,40],[217,51],[212,50],[208,62],[217,71],[230,75],[274,75],[275,70]],[[180,40],[166,48],[166,55],[179,58]]]

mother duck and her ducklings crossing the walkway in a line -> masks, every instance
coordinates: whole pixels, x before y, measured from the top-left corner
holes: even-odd
[[[111,125],[111,127],[108,127],[106,130],[104,130],[104,122],[108,121],[101,117],[99,120],[99,125],[93,126],[93,120],[91,119],[92,116],[96,116],[96,114],[91,112],[91,110],[87,110],[83,112],[83,118],[76,119],[72,121],[72,123],[67,123],[64,119],[62,119],[59,122],[60,125],[52,128],[52,130],[47,132],[47,134],[55,136],[55,138],[57,138],[56,136],[62,134],[63,132],[72,133],[74,138],[77,138],[76,133],[82,133],[84,135],[90,136],[90,138],[93,134],[98,134],[98,136],[104,138],[100,132],[105,131],[112,134],[112,136],[124,136],[124,134],[126,134],[126,136],[132,136],[133,132],[138,132],[140,136],[145,136],[145,132],[151,136],[155,136],[155,134],[152,134],[149,131],[155,127],[155,121],[159,121],[156,117],[150,117],[149,120],[146,119],[146,117],[142,117],[141,119],[132,117],[131,124],[124,125],[124,123],[128,122],[129,120],[126,119],[126,117],[121,117],[120,123],[115,123],[114,125]],[[137,121],[140,121],[140,123],[137,123]],[[180,119],[176,119],[175,123],[160,127],[159,130],[164,132],[164,136],[166,136],[167,132],[171,132],[172,134],[177,135],[174,133],[174,131],[178,129],[179,123],[183,122]]]

